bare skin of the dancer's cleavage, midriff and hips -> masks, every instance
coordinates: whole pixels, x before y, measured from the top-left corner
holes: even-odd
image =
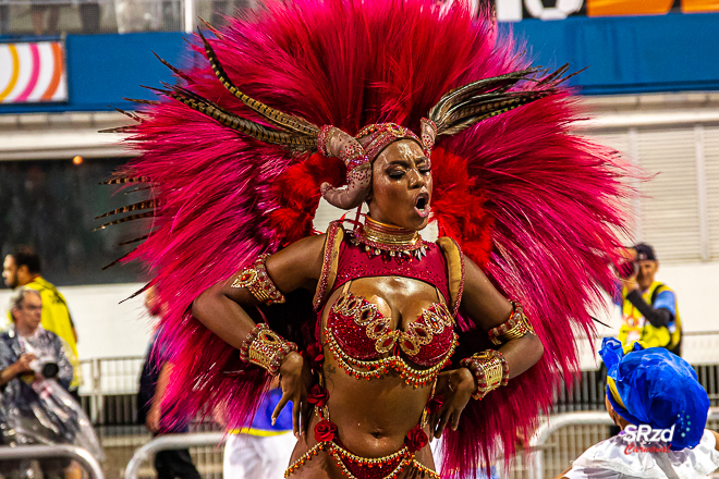
[[[405,278],[364,278],[354,281],[351,292],[376,304],[385,317],[391,317],[393,328],[402,329],[404,321],[413,321],[423,308],[437,302],[436,290],[422,281]],[[322,327],[327,322],[330,307],[341,296],[338,288],[332,293],[322,314]],[[324,351],[324,381],[329,393],[327,409],[329,420],[338,427],[338,435],[344,447],[366,458],[388,456],[400,451],[407,432],[417,426],[430,398],[432,382],[414,388],[390,371],[379,378],[356,379],[340,368],[328,347]],[[423,369],[419,366],[413,366]],[[319,421],[316,414],[309,421],[307,437],[300,440],[292,454],[294,463],[309,451],[317,441],[314,427]],[[431,437],[429,427],[425,428]],[[415,459],[434,469],[429,445],[416,452]],[[398,478],[412,477],[416,471],[405,468]],[[334,459],[318,454],[297,469],[294,478],[341,478]]]

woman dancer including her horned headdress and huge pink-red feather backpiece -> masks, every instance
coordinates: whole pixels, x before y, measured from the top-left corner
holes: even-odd
[[[564,69],[425,0],[272,2],[215,35],[109,182],[153,188],[108,224],[155,218],[127,258],[170,305],[168,404],[242,425],[279,374],[291,477],[437,477],[428,435],[443,477],[511,456],[623,226],[621,165],[571,134]],[[320,194],[369,212],[315,235]]]

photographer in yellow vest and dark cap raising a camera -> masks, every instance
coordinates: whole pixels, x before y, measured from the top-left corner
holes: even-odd
[[[642,341],[646,347],[665,347],[681,356],[682,323],[677,295],[655,281],[659,261],[654,248],[639,243],[627,248],[625,256],[626,261],[618,268],[623,318],[619,341],[624,345]]]

